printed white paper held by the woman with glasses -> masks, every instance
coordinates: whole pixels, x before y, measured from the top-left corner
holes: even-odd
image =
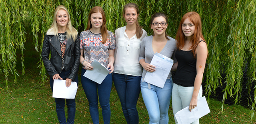
[[[156,52],[150,64],[156,66],[156,71],[147,72],[146,76],[144,77],[144,81],[163,88],[164,83],[171,71],[173,60]]]

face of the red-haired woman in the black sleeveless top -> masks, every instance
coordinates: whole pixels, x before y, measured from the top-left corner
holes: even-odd
[[[191,38],[194,35],[195,25],[190,21],[189,18],[186,18],[182,23],[182,32],[187,38]]]

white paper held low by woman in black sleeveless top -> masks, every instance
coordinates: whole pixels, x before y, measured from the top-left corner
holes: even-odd
[[[208,107],[205,97],[198,99],[197,107],[189,111],[189,106],[183,108],[175,114],[175,117],[179,124],[190,124],[195,120],[198,120],[202,116],[210,113],[210,108]]]

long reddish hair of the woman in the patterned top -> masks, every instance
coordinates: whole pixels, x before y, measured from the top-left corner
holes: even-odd
[[[90,13],[88,15],[88,24],[87,24],[87,28],[86,30],[89,30],[90,28],[92,28],[92,23],[91,23],[91,15],[94,13],[98,13],[100,12],[102,14],[102,19],[103,19],[103,23],[101,25],[101,36],[102,36],[102,44],[105,44],[107,39],[108,39],[108,29],[106,27],[106,15],[104,13],[104,10],[100,7],[100,6],[94,6],[91,10]]]

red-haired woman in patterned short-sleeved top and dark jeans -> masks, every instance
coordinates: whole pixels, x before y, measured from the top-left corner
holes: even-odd
[[[110,123],[110,91],[112,87],[112,72],[114,71],[114,33],[107,30],[106,16],[100,6],[91,9],[88,16],[86,31],[80,34],[80,63],[82,64],[81,83],[89,102],[90,115],[93,124],[99,124],[98,99],[102,108],[104,124]],[[96,60],[106,66],[110,73],[101,84],[84,77],[86,70],[93,70],[91,63]]]

